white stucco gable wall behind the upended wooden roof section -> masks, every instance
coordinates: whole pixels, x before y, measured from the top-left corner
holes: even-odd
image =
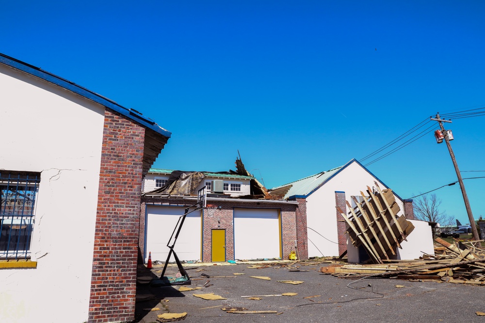
[[[351,196],[365,193],[367,186],[375,186],[374,181],[377,180],[354,162],[307,197],[308,257],[339,256],[335,192],[345,192],[345,200],[352,203]],[[403,202],[395,199],[401,209],[399,215],[404,214]]]

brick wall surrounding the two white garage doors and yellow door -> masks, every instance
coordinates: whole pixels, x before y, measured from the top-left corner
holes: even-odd
[[[177,200],[166,198],[147,197],[142,199],[140,214],[140,237],[139,247],[144,254],[145,246],[145,205],[180,205],[187,206],[194,204],[194,200]],[[202,261],[212,261],[212,229],[226,230],[226,261],[234,260],[234,208],[261,208],[261,209],[279,209],[281,214],[282,240],[283,240],[283,259],[287,259],[291,250],[294,250],[294,241],[296,237],[296,215],[297,205],[282,203],[265,203],[259,201],[243,202],[239,200],[231,201],[209,201],[210,204],[217,205],[214,215],[210,216],[206,210],[203,212],[203,231],[202,231]],[[142,229],[143,228],[143,229]],[[171,232],[170,232],[171,233]],[[177,251],[177,250],[176,250]],[[301,257],[301,255],[300,255]]]

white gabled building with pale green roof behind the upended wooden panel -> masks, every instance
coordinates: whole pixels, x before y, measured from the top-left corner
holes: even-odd
[[[365,193],[367,186],[371,188],[375,186],[374,182],[377,182],[382,189],[388,188],[356,159],[353,159],[338,168],[272,188],[270,193],[284,190],[285,199],[307,200],[308,257],[339,256],[347,248],[347,239],[344,234],[345,222],[336,206],[346,212],[345,200],[352,201],[352,206],[355,206],[351,197],[360,197],[360,192]],[[401,209],[398,215],[403,215],[404,200],[396,193],[393,192],[393,194]],[[406,203],[411,205],[412,215],[412,200]]]

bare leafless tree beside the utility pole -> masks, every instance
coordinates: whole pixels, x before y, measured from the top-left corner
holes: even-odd
[[[436,194],[423,194],[413,200],[414,216],[419,220],[437,222],[441,227],[453,226],[454,217],[441,211],[440,205],[441,200]]]

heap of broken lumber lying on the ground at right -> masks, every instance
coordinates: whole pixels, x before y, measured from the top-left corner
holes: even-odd
[[[415,261],[400,261],[373,265],[330,265],[320,272],[337,277],[399,278],[411,281],[439,281],[460,284],[485,285],[485,248],[483,240],[453,244],[437,238],[435,255],[423,255]]]

